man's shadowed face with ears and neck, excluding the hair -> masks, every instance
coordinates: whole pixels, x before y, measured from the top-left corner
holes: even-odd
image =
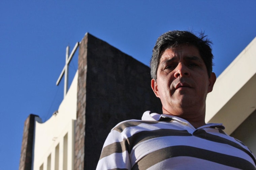
[[[181,116],[195,110],[204,114],[206,95],[215,80],[214,73],[208,76],[198,49],[182,44],[164,51],[151,86],[162,102],[164,114]]]

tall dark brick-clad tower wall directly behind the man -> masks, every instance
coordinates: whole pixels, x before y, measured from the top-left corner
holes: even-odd
[[[96,168],[106,136],[117,123],[141,119],[147,110],[162,112],[150,84],[148,66],[86,34],[78,54],[75,170]]]

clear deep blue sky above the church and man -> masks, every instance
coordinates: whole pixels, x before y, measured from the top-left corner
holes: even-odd
[[[204,31],[218,76],[255,38],[255,9],[255,0],[0,1],[0,170],[18,169],[28,115],[46,121],[58,110],[66,46],[86,32],[149,65],[164,32]]]

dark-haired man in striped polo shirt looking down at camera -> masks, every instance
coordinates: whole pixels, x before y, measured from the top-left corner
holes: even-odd
[[[211,42],[186,31],[161,35],[150,62],[151,87],[163,114],[119,123],[97,169],[256,169],[255,157],[224,126],[205,123],[205,100],[216,80]]]

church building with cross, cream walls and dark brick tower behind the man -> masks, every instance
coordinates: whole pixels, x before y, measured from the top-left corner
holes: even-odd
[[[67,88],[68,63],[78,53],[78,70]],[[256,38],[217,78],[206,99],[206,122],[223,123],[227,134],[256,154]],[[24,123],[19,170],[93,170],[103,143],[117,123],[161,113],[150,68],[86,33],[69,54],[64,99],[49,120],[29,115]]]

